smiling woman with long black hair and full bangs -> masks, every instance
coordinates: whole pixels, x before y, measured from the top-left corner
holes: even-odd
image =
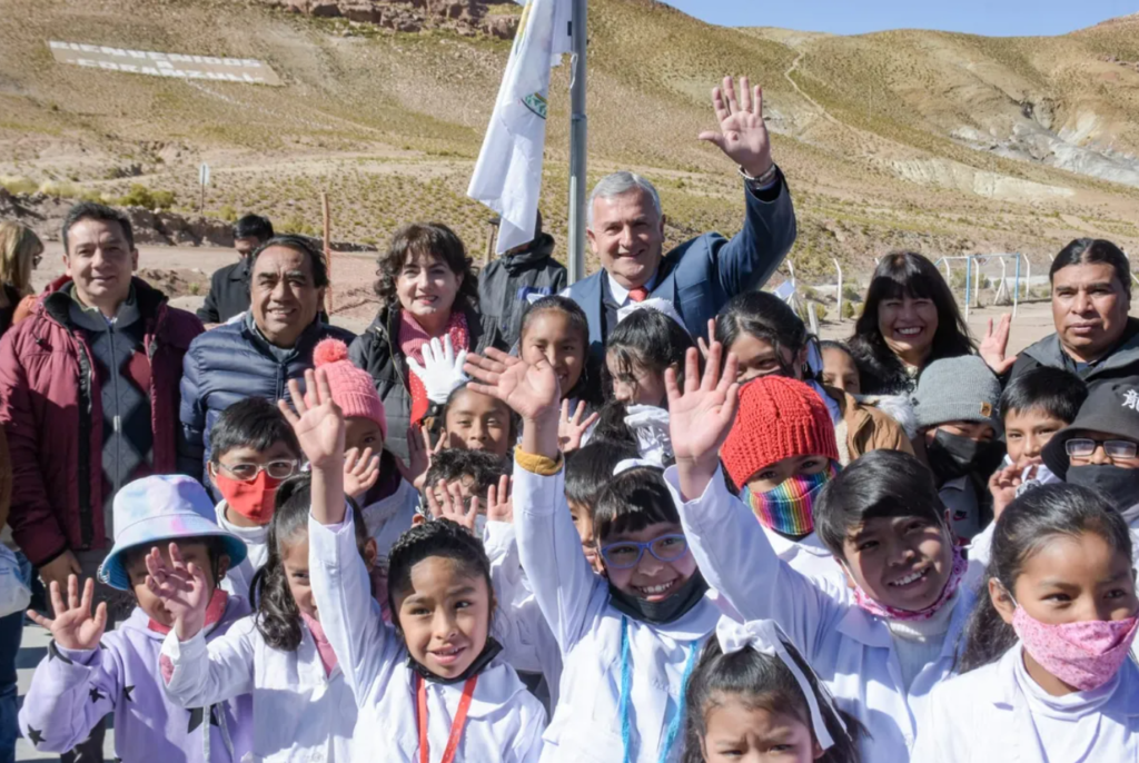
[[[907,394],[932,361],[974,351],[949,285],[932,262],[911,252],[878,263],[847,345],[862,392],[871,395]]]

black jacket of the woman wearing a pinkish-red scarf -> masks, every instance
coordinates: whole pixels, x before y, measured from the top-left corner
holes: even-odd
[[[493,318],[467,310],[467,333],[473,352],[486,347],[507,347]],[[411,426],[411,389],[408,386],[408,359],[399,347],[400,309],[385,307],[363,334],[349,347],[349,358],[357,368],[371,375],[379,399],[384,401],[387,440],[384,446],[408,462],[408,427]]]

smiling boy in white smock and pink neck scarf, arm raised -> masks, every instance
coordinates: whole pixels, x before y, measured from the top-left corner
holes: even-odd
[[[690,382],[682,395],[669,385],[678,452],[665,478],[700,572],[743,618],[775,620],[798,646],[838,706],[867,728],[863,760],[907,763],[929,690],[953,668],[972,605],[929,470],[912,456],[876,450],[839,471],[814,503],[814,528],[850,588],[798,573],[721,475],[716,453],[737,387],[729,384],[734,356],[720,378],[719,358],[711,360],[719,352],[713,344],[702,384]]]

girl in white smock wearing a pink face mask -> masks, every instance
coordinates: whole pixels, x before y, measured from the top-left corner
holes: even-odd
[[[1013,501],[962,675],[934,689],[913,760],[1139,758],[1131,556],[1126,523],[1090,490],[1047,485]]]

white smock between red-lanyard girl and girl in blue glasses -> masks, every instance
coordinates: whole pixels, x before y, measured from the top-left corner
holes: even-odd
[[[557,707],[562,650],[523,572],[514,525],[487,522],[483,547],[491,561],[498,601],[493,634],[502,645],[502,658],[516,671],[541,674],[550,692],[550,707]]]

